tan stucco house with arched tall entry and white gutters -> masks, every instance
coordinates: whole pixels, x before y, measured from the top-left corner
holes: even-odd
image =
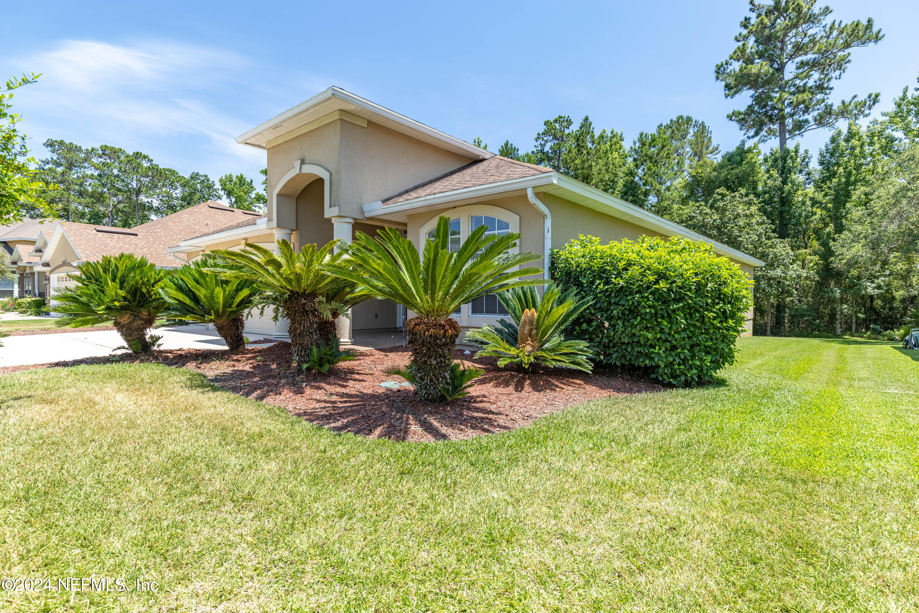
[[[202,233],[169,251],[194,258],[245,241],[272,246],[277,239],[302,244],[350,242],[357,231],[399,229],[416,246],[439,215],[451,219],[459,245],[479,226],[490,233],[520,233],[519,249],[540,257],[578,234],[604,241],[685,236],[710,243],[753,277],[760,260],[550,168],[524,164],[425,126],[369,100],[332,87],[247,131],[237,142],[267,152],[267,217]],[[548,273],[547,273],[548,274]],[[464,330],[495,324],[506,312],[494,295],[465,304],[456,314]],[[346,344],[357,329],[403,323],[400,305],[367,301],[339,322]],[[752,334],[753,311],[747,314]],[[281,334],[263,319],[247,320],[253,332]]]

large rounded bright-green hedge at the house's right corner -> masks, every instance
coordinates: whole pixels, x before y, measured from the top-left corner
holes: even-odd
[[[582,235],[552,252],[552,276],[594,299],[569,334],[594,346],[600,362],[680,386],[734,362],[752,305],[740,267],[683,238],[603,245]]]

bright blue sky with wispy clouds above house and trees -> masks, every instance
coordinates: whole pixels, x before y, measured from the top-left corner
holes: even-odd
[[[837,98],[879,92],[877,116],[916,85],[919,3],[828,4],[886,33],[836,82]],[[740,0],[15,3],[0,76],[44,73],[16,97],[38,157],[47,138],[107,143],[214,178],[257,179],[265,153],[233,137],[330,85],[493,151],[505,139],[530,149],[560,114],[627,143],[692,115],[723,151],[742,138],[725,115],[746,101],[725,99],[713,70],[746,11]],[[816,154],[827,136],[802,142]]]

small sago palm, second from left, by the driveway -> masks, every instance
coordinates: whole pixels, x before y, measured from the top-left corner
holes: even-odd
[[[211,272],[209,258],[186,264],[166,279],[160,291],[168,302],[163,316],[184,322],[214,324],[231,351],[245,345],[245,313],[255,308],[262,291],[248,279]]]

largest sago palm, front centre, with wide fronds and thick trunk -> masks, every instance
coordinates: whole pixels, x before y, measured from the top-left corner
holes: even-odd
[[[343,247],[349,267],[331,274],[350,279],[375,296],[399,302],[414,311],[405,322],[412,361],[409,372],[419,400],[437,401],[441,386],[450,380],[452,351],[459,324],[450,318],[460,304],[502,289],[542,285],[542,279],[521,279],[541,273],[536,267],[513,270],[539,259],[532,253],[507,254],[519,234],[485,238],[485,226],[472,231],[459,251],[449,250],[449,218],[437,220],[433,240],[425,241],[422,254],[392,228],[370,237],[357,233]],[[480,253],[481,252],[481,253]]]

